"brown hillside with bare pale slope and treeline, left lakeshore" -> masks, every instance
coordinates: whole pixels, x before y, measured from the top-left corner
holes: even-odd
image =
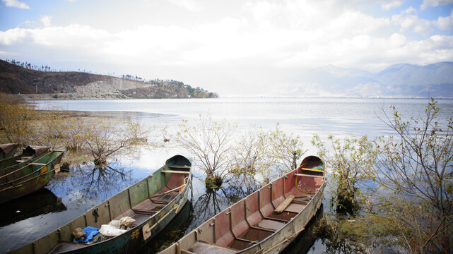
[[[2,60],[0,92],[36,99],[217,97],[175,80],[145,82],[75,71],[36,71]]]

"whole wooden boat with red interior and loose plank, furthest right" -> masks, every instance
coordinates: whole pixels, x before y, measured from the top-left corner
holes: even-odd
[[[162,254],[281,253],[322,203],[324,163],[306,157],[298,169],[216,214]]]

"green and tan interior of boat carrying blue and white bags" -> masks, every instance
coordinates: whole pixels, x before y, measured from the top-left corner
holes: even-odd
[[[93,207],[81,217],[60,228],[61,234],[64,232],[64,236],[49,253],[61,253],[86,247],[86,244],[73,243],[71,232],[77,227],[81,229],[86,226],[100,228],[102,224],[109,224],[112,220],[119,220],[126,216],[135,219],[128,231],[140,226],[148,219],[157,225],[158,219],[153,215],[160,212],[165,205],[172,202],[184,190],[189,181],[189,171],[190,167],[187,166],[170,165]],[[92,245],[96,244],[98,243]]]

